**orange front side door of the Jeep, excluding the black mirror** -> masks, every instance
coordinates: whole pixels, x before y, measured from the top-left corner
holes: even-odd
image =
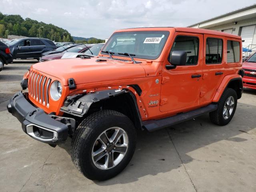
[[[185,66],[167,70],[172,51],[186,51]],[[199,105],[202,86],[203,35],[177,32],[162,67],[160,111],[182,112]]]

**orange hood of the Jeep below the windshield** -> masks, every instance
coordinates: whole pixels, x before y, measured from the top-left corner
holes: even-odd
[[[146,77],[138,63],[96,57],[51,60],[31,68],[59,78],[64,85],[68,85],[69,78],[74,78],[76,84],[84,84]]]

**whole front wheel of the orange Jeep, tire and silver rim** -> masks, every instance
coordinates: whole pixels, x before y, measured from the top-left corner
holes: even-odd
[[[71,158],[91,180],[107,180],[130,162],[136,147],[136,130],[119,112],[102,110],[85,118],[75,131]]]

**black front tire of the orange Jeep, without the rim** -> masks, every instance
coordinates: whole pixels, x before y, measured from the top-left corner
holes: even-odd
[[[102,170],[92,160],[94,142],[98,136],[111,127],[122,128],[128,136],[128,148],[119,164]],[[86,117],[76,129],[72,144],[71,158],[79,172],[90,180],[107,180],[119,174],[130,162],[136,148],[137,133],[132,121],[113,110],[101,110]]]

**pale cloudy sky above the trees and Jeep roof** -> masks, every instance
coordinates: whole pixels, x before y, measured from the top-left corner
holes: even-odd
[[[62,27],[72,36],[108,38],[116,29],[188,26],[255,0],[0,0],[0,12]]]

